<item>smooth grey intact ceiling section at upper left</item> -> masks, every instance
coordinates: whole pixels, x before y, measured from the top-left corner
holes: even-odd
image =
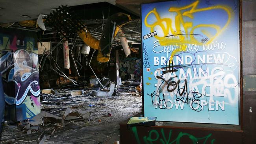
[[[1,0],[0,23],[19,22],[37,18],[40,14],[49,14],[61,4],[78,6],[98,2],[115,4],[115,0]]]

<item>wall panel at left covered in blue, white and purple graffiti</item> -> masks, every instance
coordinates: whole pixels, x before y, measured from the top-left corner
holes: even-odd
[[[26,31],[0,30],[0,72],[6,103],[16,105],[16,120],[40,113],[37,42]]]

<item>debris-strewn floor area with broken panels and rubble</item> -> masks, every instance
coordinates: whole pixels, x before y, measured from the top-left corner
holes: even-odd
[[[104,79],[108,83],[108,79]],[[5,123],[1,142],[11,144],[87,143],[119,141],[118,123],[142,111],[139,81],[122,87],[96,89],[73,85],[43,89],[41,113],[31,119]],[[93,90],[94,89],[94,90]],[[95,95],[93,95],[95,94]]]

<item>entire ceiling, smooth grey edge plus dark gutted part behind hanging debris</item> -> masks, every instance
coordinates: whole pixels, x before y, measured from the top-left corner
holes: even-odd
[[[58,6],[68,5],[72,11],[77,13],[84,22],[87,30],[100,39],[104,25],[108,17],[114,13],[122,12],[131,15],[132,21],[123,26],[127,41],[139,44],[140,36],[140,4],[155,2],[157,0],[1,0],[0,1],[0,23],[7,23],[8,28],[18,28],[28,31],[38,31],[39,41],[53,41],[61,39],[51,27],[46,25],[46,31],[40,28],[28,28],[21,26],[20,21],[36,20],[40,14],[49,15]],[[158,0],[159,1],[159,0]],[[162,0],[160,0],[162,1]],[[3,27],[3,26],[2,26]],[[83,43],[82,39],[78,39]],[[113,45],[118,45],[119,37],[113,40]]]

